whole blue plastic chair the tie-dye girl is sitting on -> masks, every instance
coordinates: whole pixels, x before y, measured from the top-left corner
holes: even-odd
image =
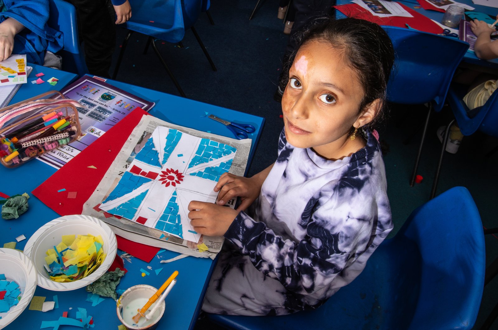
[[[286,316],[208,314],[229,329],[472,329],[484,287],[481,218],[455,187],[417,208],[364,271],[313,311]]]

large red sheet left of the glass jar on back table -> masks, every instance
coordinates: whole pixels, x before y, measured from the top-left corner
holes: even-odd
[[[399,2],[397,2],[399,3]],[[413,17],[399,17],[399,16],[390,16],[390,17],[378,17],[374,16],[370,11],[361,7],[356,3],[348,3],[342,4],[338,6],[334,6],[337,10],[342,12],[348,17],[355,17],[368,20],[370,22],[376,23],[378,25],[390,25],[390,26],[398,26],[398,27],[406,27],[408,24],[410,27],[430,33],[442,33],[443,29],[434,23],[430,18],[416,12],[410,7],[405,6],[402,3],[399,3],[403,9],[408,11]]]

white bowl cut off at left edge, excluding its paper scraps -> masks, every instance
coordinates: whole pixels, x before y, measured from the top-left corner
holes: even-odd
[[[29,258],[12,248],[0,248],[0,273],[21,290],[21,300],[7,313],[0,313],[0,329],[14,321],[29,305],[36,289],[36,269]]]

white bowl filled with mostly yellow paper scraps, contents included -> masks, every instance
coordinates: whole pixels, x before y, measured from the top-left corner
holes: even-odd
[[[86,215],[67,215],[38,229],[24,253],[38,273],[38,285],[75,290],[101,277],[111,266],[118,244],[111,228]]]

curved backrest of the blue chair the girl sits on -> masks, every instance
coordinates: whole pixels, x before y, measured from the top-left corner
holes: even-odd
[[[417,208],[393,240],[416,242],[423,260],[410,329],[472,327],[465,322],[476,320],[486,262],[483,225],[469,191],[455,187]]]

